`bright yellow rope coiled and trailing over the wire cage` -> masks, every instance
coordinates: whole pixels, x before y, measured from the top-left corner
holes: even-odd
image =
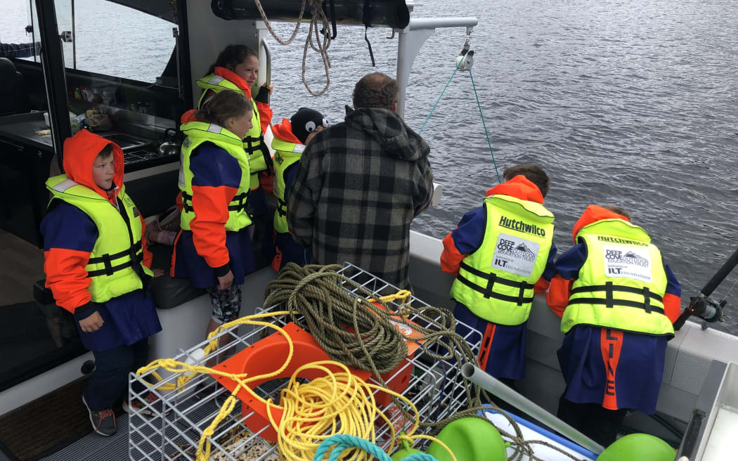
[[[211,333],[210,336],[208,336],[208,339],[212,339],[213,336],[221,333],[221,331],[227,330],[235,325],[260,325],[277,330],[282,333],[289,344],[289,355],[287,356],[284,364],[274,372],[246,377],[246,373],[228,373],[221,370],[214,370],[210,367],[186,364],[170,358],[160,358],[159,360],[153,361],[151,364],[137,370],[136,374],[139,376],[146,372],[156,370],[157,368],[163,368],[169,372],[189,375],[186,379],[183,379],[184,375],[180,376],[177,379],[176,387],[173,383],[157,387],[157,389],[162,390],[176,389],[180,386],[181,382],[182,384],[185,384],[189,381],[195,373],[221,375],[238,383],[238,386],[235,387],[231,395],[226,399],[220,412],[218,412],[218,415],[213,419],[213,422],[210,423],[210,426],[207,426],[207,428],[202,432],[196,453],[197,461],[210,460],[210,451],[212,448],[210,440],[212,440],[218,424],[230,415],[230,412],[232,412],[235,407],[235,404],[237,403],[235,395],[237,395],[241,389],[247,387],[249,382],[269,379],[279,375],[286,369],[287,365],[292,360],[294,346],[289,334],[277,325],[254,320],[261,319],[263,317],[287,315],[289,313],[289,311],[279,311],[241,317],[241,319],[236,319],[233,322],[221,325]],[[208,344],[205,349],[206,356],[208,353],[215,350],[217,343],[218,339],[213,339],[213,341]],[[343,372],[331,372],[326,367],[328,365],[339,367]],[[300,384],[300,382],[297,381],[297,377],[300,372],[308,368],[323,370],[325,372],[325,377],[314,379],[307,384]],[[152,372],[151,375],[154,375],[159,381],[161,380],[156,372]],[[414,424],[407,434],[397,437],[392,422],[376,405],[373,395],[374,389],[380,389],[381,392],[387,392],[390,395],[396,396],[412,409]],[[179,388],[179,390],[182,389]],[[255,397],[263,401],[263,399],[258,397],[258,395],[255,395]],[[349,372],[348,367],[344,364],[336,361],[314,362],[312,364],[303,365],[303,367],[295,370],[292,378],[290,378],[289,384],[280,392],[280,405],[283,406],[284,411],[282,420],[279,423],[274,420],[272,412],[269,411],[269,409],[274,406],[272,399],[264,402],[267,406],[269,422],[277,431],[277,445],[280,451],[280,456],[283,460],[312,460],[320,442],[333,434],[356,435],[357,437],[362,437],[365,440],[370,440],[372,443],[375,443],[375,423],[377,417],[380,417],[385,423],[387,423],[387,426],[391,431],[390,453],[393,451],[396,439],[398,438],[409,440],[410,442],[415,439],[423,438],[441,443],[441,446],[444,446],[444,448],[449,451],[452,460],[456,461],[454,454],[440,440],[423,434],[413,435],[415,429],[418,427],[420,417],[418,415],[418,409],[412,401],[404,397],[404,395],[400,395],[389,389],[384,389],[383,387],[366,383],[362,379],[352,375],[351,372]],[[350,460],[356,461],[370,459],[370,455],[365,453],[355,453],[350,458]]]

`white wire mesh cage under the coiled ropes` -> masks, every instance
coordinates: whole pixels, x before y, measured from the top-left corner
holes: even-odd
[[[351,296],[365,297],[368,291],[371,297],[379,299],[387,295],[396,294],[399,290],[383,280],[363,271],[361,268],[346,263],[339,271],[345,280],[342,289]],[[413,309],[407,309],[412,306]],[[444,330],[449,325],[443,325],[444,316],[427,315],[423,308],[429,306],[410,295],[409,298],[387,302],[387,308],[392,313],[403,312],[402,315],[410,322],[421,325],[430,330]],[[421,308],[421,309],[417,309]],[[275,313],[283,311],[284,306],[274,305],[268,308],[257,308],[255,313]],[[418,313],[423,311],[423,314]],[[431,311],[432,312],[432,311]],[[299,319],[300,316],[297,316]],[[277,315],[261,319],[272,322],[280,327],[288,327],[291,321],[289,316]],[[463,338],[472,347],[472,353],[478,354],[481,333],[468,325],[462,325]],[[399,328],[403,325],[397,325]],[[401,329],[401,328],[400,328]],[[273,335],[274,330],[263,325],[236,325],[228,328],[220,335],[222,346],[210,353],[208,357],[217,357],[224,351],[244,352],[249,347]],[[273,338],[272,338],[273,339]],[[454,358],[438,359],[437,354],[447,352],[448,343],[443,336],[435,339],[426,339],[422,344],[407,340],[410,353],[395,370],[382,375],[384,385],[393,389],[411,401],[418,409],[421,421],[438,421],[444,417],[463,409],[467,403],[466,390],[461,378],[458,364]],[[209,341],[205,340],[183,351],[174,359],[187,364],[205,365],[208,357],[202,357],[202,350]],[[238,356],[238,353],[235,354]],[[235,357],[234,356],[234,357]],[[277,360],[272,364],[269,360],[261,360],[275,369],[280,366]],[[156,373],[161,381],[157,381]],[[196,451],[199,440],[208,426],[218,415],[222,403],[230,395],[230,390],[221,385],[211,375],[194,374],[184,383],[184,373],[165,373],[162,370],[150,370],[140,376],[131,374],[129,398],[140,401],[139,408],[132,408],[128,428],[128,450],[131,460],[167,460],[184,461],[196,460]],[[298,378],[299,379],[299,378]],[[288,378],[275,378],[262,382],[252,389],[252,392],[263,399],[271,398],[278,403],[280,391],[286,386]],[[376,376],[370,375],[367,380],[370,384],[382,386]],[[156,384],[151,384],[156,382]],[[158,398],[149,401],[145,398],[149,392]],[[387,415],[393,428],[384,419],[377,417],[374,433],[376,444],[385,451],[393,443],[392,429],[407,431],[413,425],[412,420],[404,417],[396,404],[383,392],[374,392],[379,409]],[[239,394],[240,398],[243,398]],[[244,406],[246,410],[244,410]],[[215,427],[213,434],[207,438],[212,444],[210,460],[230,461],[261,461],[280,460],[277,446],[270,434],[274,429],[269,423],[255,427],[255,410],[251,410],[245,401],[239,401],[233,411]],[[415,428],[416,434],[430,431],[428,428]]]

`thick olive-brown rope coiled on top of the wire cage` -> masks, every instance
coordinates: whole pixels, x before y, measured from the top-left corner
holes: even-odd
[[[297,264],[288,263],[277,274],[277,278],[266,285],[264,290],[264,305],[271,306],[280,302],[286,303],[286,308],[292,322],[308,329],[332,360],[344,363],[351,362],[351,366],[353,367],[372,372],[374,377],[384,387],[386,387],[386,384],[380,376],[382,375],[380,370],[394,370],[396,365],[395,367],[391,367],[389,364],[379,362],[379,360],[389,358],[392,361],[391,363],[399,364],[399,361],[407,353],[404,353],[401,357],[399,357],[399,353],[392,353],[390,349],[402,350],[402,345],[399,342],[396,344],[387,344],[384,341],[370,341],[373,338],[370,338],[365,330],[361,330],[360,325],[368,328],[368,331],[373,332],[373,334],[382,334],[383,337],[390,337],[391,335],[387,330],[399,331],[390,322],[391,319],[393,322],[403,323],[416,332],[421,333],[421,336],[414,336],[408,339],[422,342],[421,347],[424,353],[431,358],[457,364],[477,363],[477,358],[469,347],[469,344],[466,343],[466,340],[462,336],[455,332],[456,319],[450,311],[431,306],[413,308],[407,303],[404,303],[400,305],[397,312],[392,312],[382,298],[377,302],[384,309],[378,308],[369,301],[373,296],[371,292],[354,280],[345,277],[343,274],[339,274],[337,271],[340,268],[341,266],[338,265],[310,265],[300,267]],[[349,291],[352,293],[349,293]],[[370,312],[368,315],[365,315],[362,311]],[[304,317],[303,321],[300,321],[298,313]],[[400,316],[397,315],[398,313]],[[441,328],[430,329],[422,327],[418,325],[423,323],[420,321],[411,324],[405,319],[405,315],[408,313],[413,313],[416,318],[423,319],[430,325],[440,324]],[[359,318],[362,320],[359,320]],[[441,320],[436,320],[438,318]],[[371,320],[370,325],[367,325],[365,319]],[[344,325],[353,326],[354,333],[348,333],[349,336],[344,336],[344,333],[346,333],[342,329]],[[341,332],[338,330],[341,330]],[[430,341],[424,341],[426,339],[430,339]],[[402,336],[400,342],[405,343],[404,336]],[[441,354],[432,350],[430,344],[434,343],[447,344],[446,353]],[[407,344],[404,345],[407,347]],[[365,355],[359,356],[357,350],[362,350],[362,353],[365,353]],[[407,348],[404,350],[407,351]],[[573,460],[579,460],[579,458],[576,458],[568,451],[564,451],[558,446],[554,446],[544,440],[525,440],[520,426],[518,426],[517,422],[507,412],[501,410],[495,403],[488,403],[486,406],[482,405],[482,397],[486,401],[492,402],[492,398],[486,391],[470,384],[466,380],[463,380],[463,387],[469,405],[466,409],[436,423],[421,421],[420,426],[430,428],[431,434],[435,435],[452,420],[458,420],[463,417],[479,417],[489,422],[486,417],[480,415],[480,412],[489,410],[491,406],[492,409],[506,417],[514,429],[514,434],[509,434],[497,428],[500,434],[511,440],[511,446],[514,448],[514,452],[508,457],[509,460],[521,460],[527,456],[531,461],[543,461],[535,456],[532,448],[534,445],[548,446],[562,454],[566,454],[566,456]],[[406,419],[413,419],[413,416],[407,410],[407,405],[403,401],[393,397],[393,402],[401,410]]]

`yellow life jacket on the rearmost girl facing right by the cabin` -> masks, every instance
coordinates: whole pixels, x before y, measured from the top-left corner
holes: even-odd
[[[220,93],[223,90],[232,90],[246,97],[244,91],[238,88],[235,83],[220,75],[206,75],[197,80],[196,83],[197,86],[203,89],[200,101],[197,103],[198,108],[202,108],[207,90],[213,90],[215,93]],[[249,100],[249,103],[252,104],[254,109],[251,116],[251,129],[246,133],[246,137],[244,138],[244,150],[246,150],[246,156],[249,158],[249,168],[251,171],[249,187],[251,190],[254,190],[259,187],[258,173],[267,169],[268,165],[272,163],[272,158],[269,156],[269,150],[264,144],[264,136],[261,133],[261,117],[259,117],[256,103],[249,97],[246,97],[246,99]]]

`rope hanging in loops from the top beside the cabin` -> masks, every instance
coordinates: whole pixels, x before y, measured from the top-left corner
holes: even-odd
[[[300,24],[302,24],[303,15],[305,14],[305,6],[307,3],[310,4],[310,30],[308,30],[308,36],[305,39],[305,47],[303,48],[302,78],[303,85],[305,85],[308,93],[312,94],[313,96],[320,96],[328,90],[328,86],[331,86],[331,76],[328,73],[328,69],[331,68],[331,59],[328,58],[328,47],[331,46],[331,35],[328,33],[328,29],[331,24],[330,21],[328,21],[328,18],[325,16],[325,11],[323,10],[323,1],[324,0],[303,0],[302,5],[300,6],[300,15],[297,17],[297,23],[294,24],[292,35],[288,39],[283,40],[282,38],[277,36],[277,32],[272,29],[272,23],[270,23],[269,18],[266,17],[266,13],[261,6],[261,1],[254,0],[256,8],[257,10],[259,10],[259,14],[261,14],[261,18],[263,19],[264,24],[266,24],[266,29],[269,30],[269,33],[272,34],[272,37],[274,37],[277,43],[280,45],[289,45],[292,43],[294,38],[297,36],[297,31],[300,30]],[[318,29],[318,22],[323,24],[323,41],[320,40],[321,32]],[[314,41],[313,34],[315,35]],[[323,59],[323,67],[325,68],[325,87],[323,87],[323,89],[318,91],[317,93],[310,89],[310,86],[308,86],[308,82],[305,78],[305,63],[308,57],[308,44],[311,49],[313,49],[315,52],[320,53],[320,58]]]

